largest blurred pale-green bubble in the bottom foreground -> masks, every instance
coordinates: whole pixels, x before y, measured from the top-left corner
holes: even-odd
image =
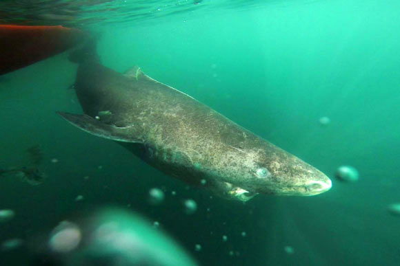
[[[119,208],[61,223],[49,246],[51,255],[66,266],[197,265],[158,225]]]

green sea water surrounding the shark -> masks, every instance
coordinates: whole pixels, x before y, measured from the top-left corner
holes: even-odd
[[[0,77],[0,168],[26,164],[26,148],[39,144],[46,173],[39,186],[0,180],[0,209],[16,212],[0,223],[0,241],[28,241],[113,204],[159,221],[200,265],[399,265],[400,217],[387,208],[400,202],[400,2],[217,3],[83,26],[101,35],[107,67],[139,65],[312,164],[332,189],[243,204],[187,188],[56,115],[81,112],[68,89],[77,65],[65,53]],[[324,116],[330,124],[321,126]],[[359,181],[334,177],[343,164],[359,170]],[[154,187],[166,191],[160,206],[147,200]],[[192,215],[182,209],[188,198],[198,206]],[[30,245],[2,252],[0,265],[26,265],[30,256]]]

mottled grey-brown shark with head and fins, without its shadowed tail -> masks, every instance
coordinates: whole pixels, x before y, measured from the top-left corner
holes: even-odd
[[[120,142],[148,164],[228,199],[257,194],[317,195],[326,175],[186,93],[133,67],[126,74],[81,63],[75,89],[83,115],[59,114],[80,129]]]

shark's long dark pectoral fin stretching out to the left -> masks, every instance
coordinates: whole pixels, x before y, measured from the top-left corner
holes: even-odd
[[[57,112],[62,118],[90,134],[119,142],[142,142],[135,137],[130,127],[117,127],[105,124],[89,115],[74,115],[72,113]]]

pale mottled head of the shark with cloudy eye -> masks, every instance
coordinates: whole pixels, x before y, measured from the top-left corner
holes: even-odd
[[[321,171],[272,144],[237,153],[232,184],[238,199],[248,195],[269,194],[312,196],[328,191],[332,181]],[[243,192],[244,191],[244,192]]]

